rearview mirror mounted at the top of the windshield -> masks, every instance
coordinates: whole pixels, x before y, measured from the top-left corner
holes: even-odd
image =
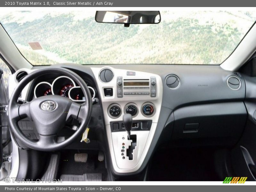
[[[157,24],[161,21],[159,11],[97,11],[99,23]]]

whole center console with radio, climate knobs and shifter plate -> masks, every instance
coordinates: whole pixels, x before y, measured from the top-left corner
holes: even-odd
[[[91,68],[102,101],[108,146],[115,172],[137,171],[156,131],[163,84],[160,76],[112,67]],[[127,134],[125,114],[132,119]],[[129,115],[129,116],[130,116]]]

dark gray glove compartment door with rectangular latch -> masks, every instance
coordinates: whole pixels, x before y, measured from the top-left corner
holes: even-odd
[[[172,141],[178,145],[234,145],[244,130],[246,116],[243,102],[178,108]]]

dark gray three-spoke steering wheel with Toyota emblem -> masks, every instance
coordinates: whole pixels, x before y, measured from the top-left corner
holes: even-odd
[[[78,104],[60,95],[47,95],[18,104],[23,88],[38,76],[58,73],[72,78],[82,89],[85,103]],[[84,80],[73,71],[65,68],[50,67],[36,70],[20,81],[12,93],[8,107],[8,120],[16,139],[26,146],[40,151],[53,151],[66,147],[77,137],[82,136],[92,114],[92,97]],[[35,124],[39,139],[30,140],[18,126],[18,121],[28,117]],[[57,133],[65,126],[70,117],[76,118],[80,126],[68,139],[58,142]]]

